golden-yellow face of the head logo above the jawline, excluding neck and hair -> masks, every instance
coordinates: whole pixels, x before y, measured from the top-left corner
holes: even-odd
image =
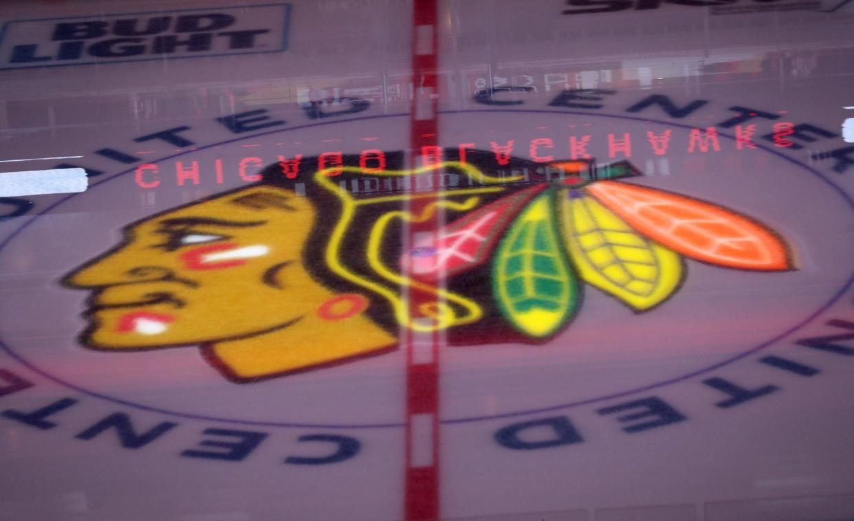
[[[128,227],[118,249],[67,278],[96,290],[89,342],[98,348],[213,342],[299,319],[319,297],[300,255],[313,218],[307,201],[254,188]],[[285,284],[290,297],[279,298]]]

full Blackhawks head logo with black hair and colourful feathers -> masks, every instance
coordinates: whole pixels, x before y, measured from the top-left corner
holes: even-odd
[[[81,342],[199,346],[250,382],[387,352],[407,328],[450,346],[544,342],[570,325],[585,284],[646,312],[679,289],[685,259],[793,269],[775,231],[635,184],[625,161],[497,165],[469,152],[407,171],[388,157],[308,159],[299,179],[272,165],[256,184],[127,225],[63,279],[91,291]],[[447,224],[406,243],[408,225],[439,214]]]

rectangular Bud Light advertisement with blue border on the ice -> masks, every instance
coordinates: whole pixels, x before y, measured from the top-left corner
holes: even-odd
[[[280,52],[290,4],[11,20],[0,70]]]

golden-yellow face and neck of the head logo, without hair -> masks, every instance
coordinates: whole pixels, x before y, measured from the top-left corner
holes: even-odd
[[[309,330],[330,329],[319,308],[334,315],[354,306],[336,301],[303,266],[315,215],[307,198],[260,185],[126,227],[120,246],[65,279],[93,291],[83,342],[97,349],[203,344],[208,358],[217,359],[214,365],[236,379],[365,350],[341,342],[313,350],[313,342],[304,342],[310,334],[315,341],[321,337]],[[370,348],[391,342],[368,319],[354,314],[348,322],[351,331],[370,330]]]

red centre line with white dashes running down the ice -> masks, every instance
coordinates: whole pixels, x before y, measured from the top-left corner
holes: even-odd
[[[424,147],[438,144],[438,91],[436,67],[438,65],[436,21],[437,0],[415,0],[412,4],[412,116],[410,125],[411,152],[409,166],[414,169],[424,165],[419,158]],[[427,173],[425,175],[434,175]],[[412,191],[416,190],[412,179]],[[435,201],[430,197],[412,199],[409,210],[421,214]],[[441,225],[441,214],[423,222],[412,222],[406,227],[404,243],[412,245],[416,237],[436,231]],[[412,263],[411,263],[412,264]],[[412,279],[412,266],[407,268]],[[418,308],[436,301],[423,291],[407,291],[409,316],[416,319]],[[401,342],[407,351],[407,427],[406,427],[406,483],[404,509],[407,521],[425,521],[439,518],[439,337],[437,333],[415,333],[404,328]]]

